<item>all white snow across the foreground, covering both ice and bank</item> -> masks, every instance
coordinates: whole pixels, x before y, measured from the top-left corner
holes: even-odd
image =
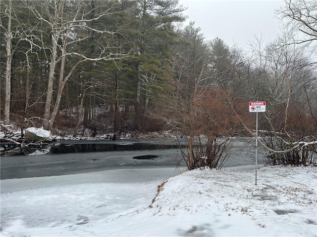
[[[317,167],[262,167],[257,186],[255,170],[177,174],[1,180],[1,237],[317,236]]]

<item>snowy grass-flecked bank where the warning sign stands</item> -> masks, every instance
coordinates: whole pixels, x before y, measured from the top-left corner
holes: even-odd
[[[167,219],[158,236],[317,236],[316,167],[265,167],[254,180],[209,169],[168,179],[149,211]]]

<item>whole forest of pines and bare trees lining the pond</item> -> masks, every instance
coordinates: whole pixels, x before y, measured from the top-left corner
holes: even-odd
[[[206,40],[195,22],[181,25],[178,0],[1,0],[0,8],[4,124],[74,136],[170,130],[188,137],[192,169],[202,157],[218,165],[226,138],[254,136],[248,103],[265,101],[260,142],[272,162],[316,159],[314,1],[285,0],[280,35],[255,39],[249,52]],[[210,149],[195,151],[194,137]]]

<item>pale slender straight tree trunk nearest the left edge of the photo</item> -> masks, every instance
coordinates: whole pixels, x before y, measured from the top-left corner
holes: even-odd
[[[8,19],[8,29],[6,36],[6,71],[5,71],[5,101],[4,101],[4,124],[9,124],[10,122],[10,102],[11,102],[11,63],[12,63],[12,52],[11,52],[11,10],[12,1],[9,2],[9,19]]]

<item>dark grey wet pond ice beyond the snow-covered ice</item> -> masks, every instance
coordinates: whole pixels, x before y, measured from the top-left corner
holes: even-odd
[[[82,145],[93,147],[109,144],[125,147],[121,150],[106,152],[77,152],[64,154],[46,154],[38,156],[2,156],[1,157],[1,179],[29,178],[54,176],[65,174],[87,173],[94,171],[128,169],[128,168],[154,168],[173,167],[177,164],[185,167],[181,160],[180,150],[171,144],[171,140],[152,139],[146,141],[64,141],[63,147]],[[234,138],[228,150],[229,158],[224,167],[253,165],[255,164],[254,141],[250,138]],[[134,144],[136,147],[132,147]],[[137,145],[136,145],[137,144]],[[140,145],[141,144],[141,145]],[[158,147],[160,149],[153,149]],[[169,147],[166,149],[166,147]],[[137,149],[136,149],[137,148]],[[142,148],[142,149],[140,149]],[[151,148],[151,149],[150,149]],[[73,149],[73,148],[71,148]],[[78,148],[79,149],[79,148]],[[82,147],[80,149],[83,149]],[[130,150],[129,150],[130,149]],[[259,164],[264,163],[262,156]]]

